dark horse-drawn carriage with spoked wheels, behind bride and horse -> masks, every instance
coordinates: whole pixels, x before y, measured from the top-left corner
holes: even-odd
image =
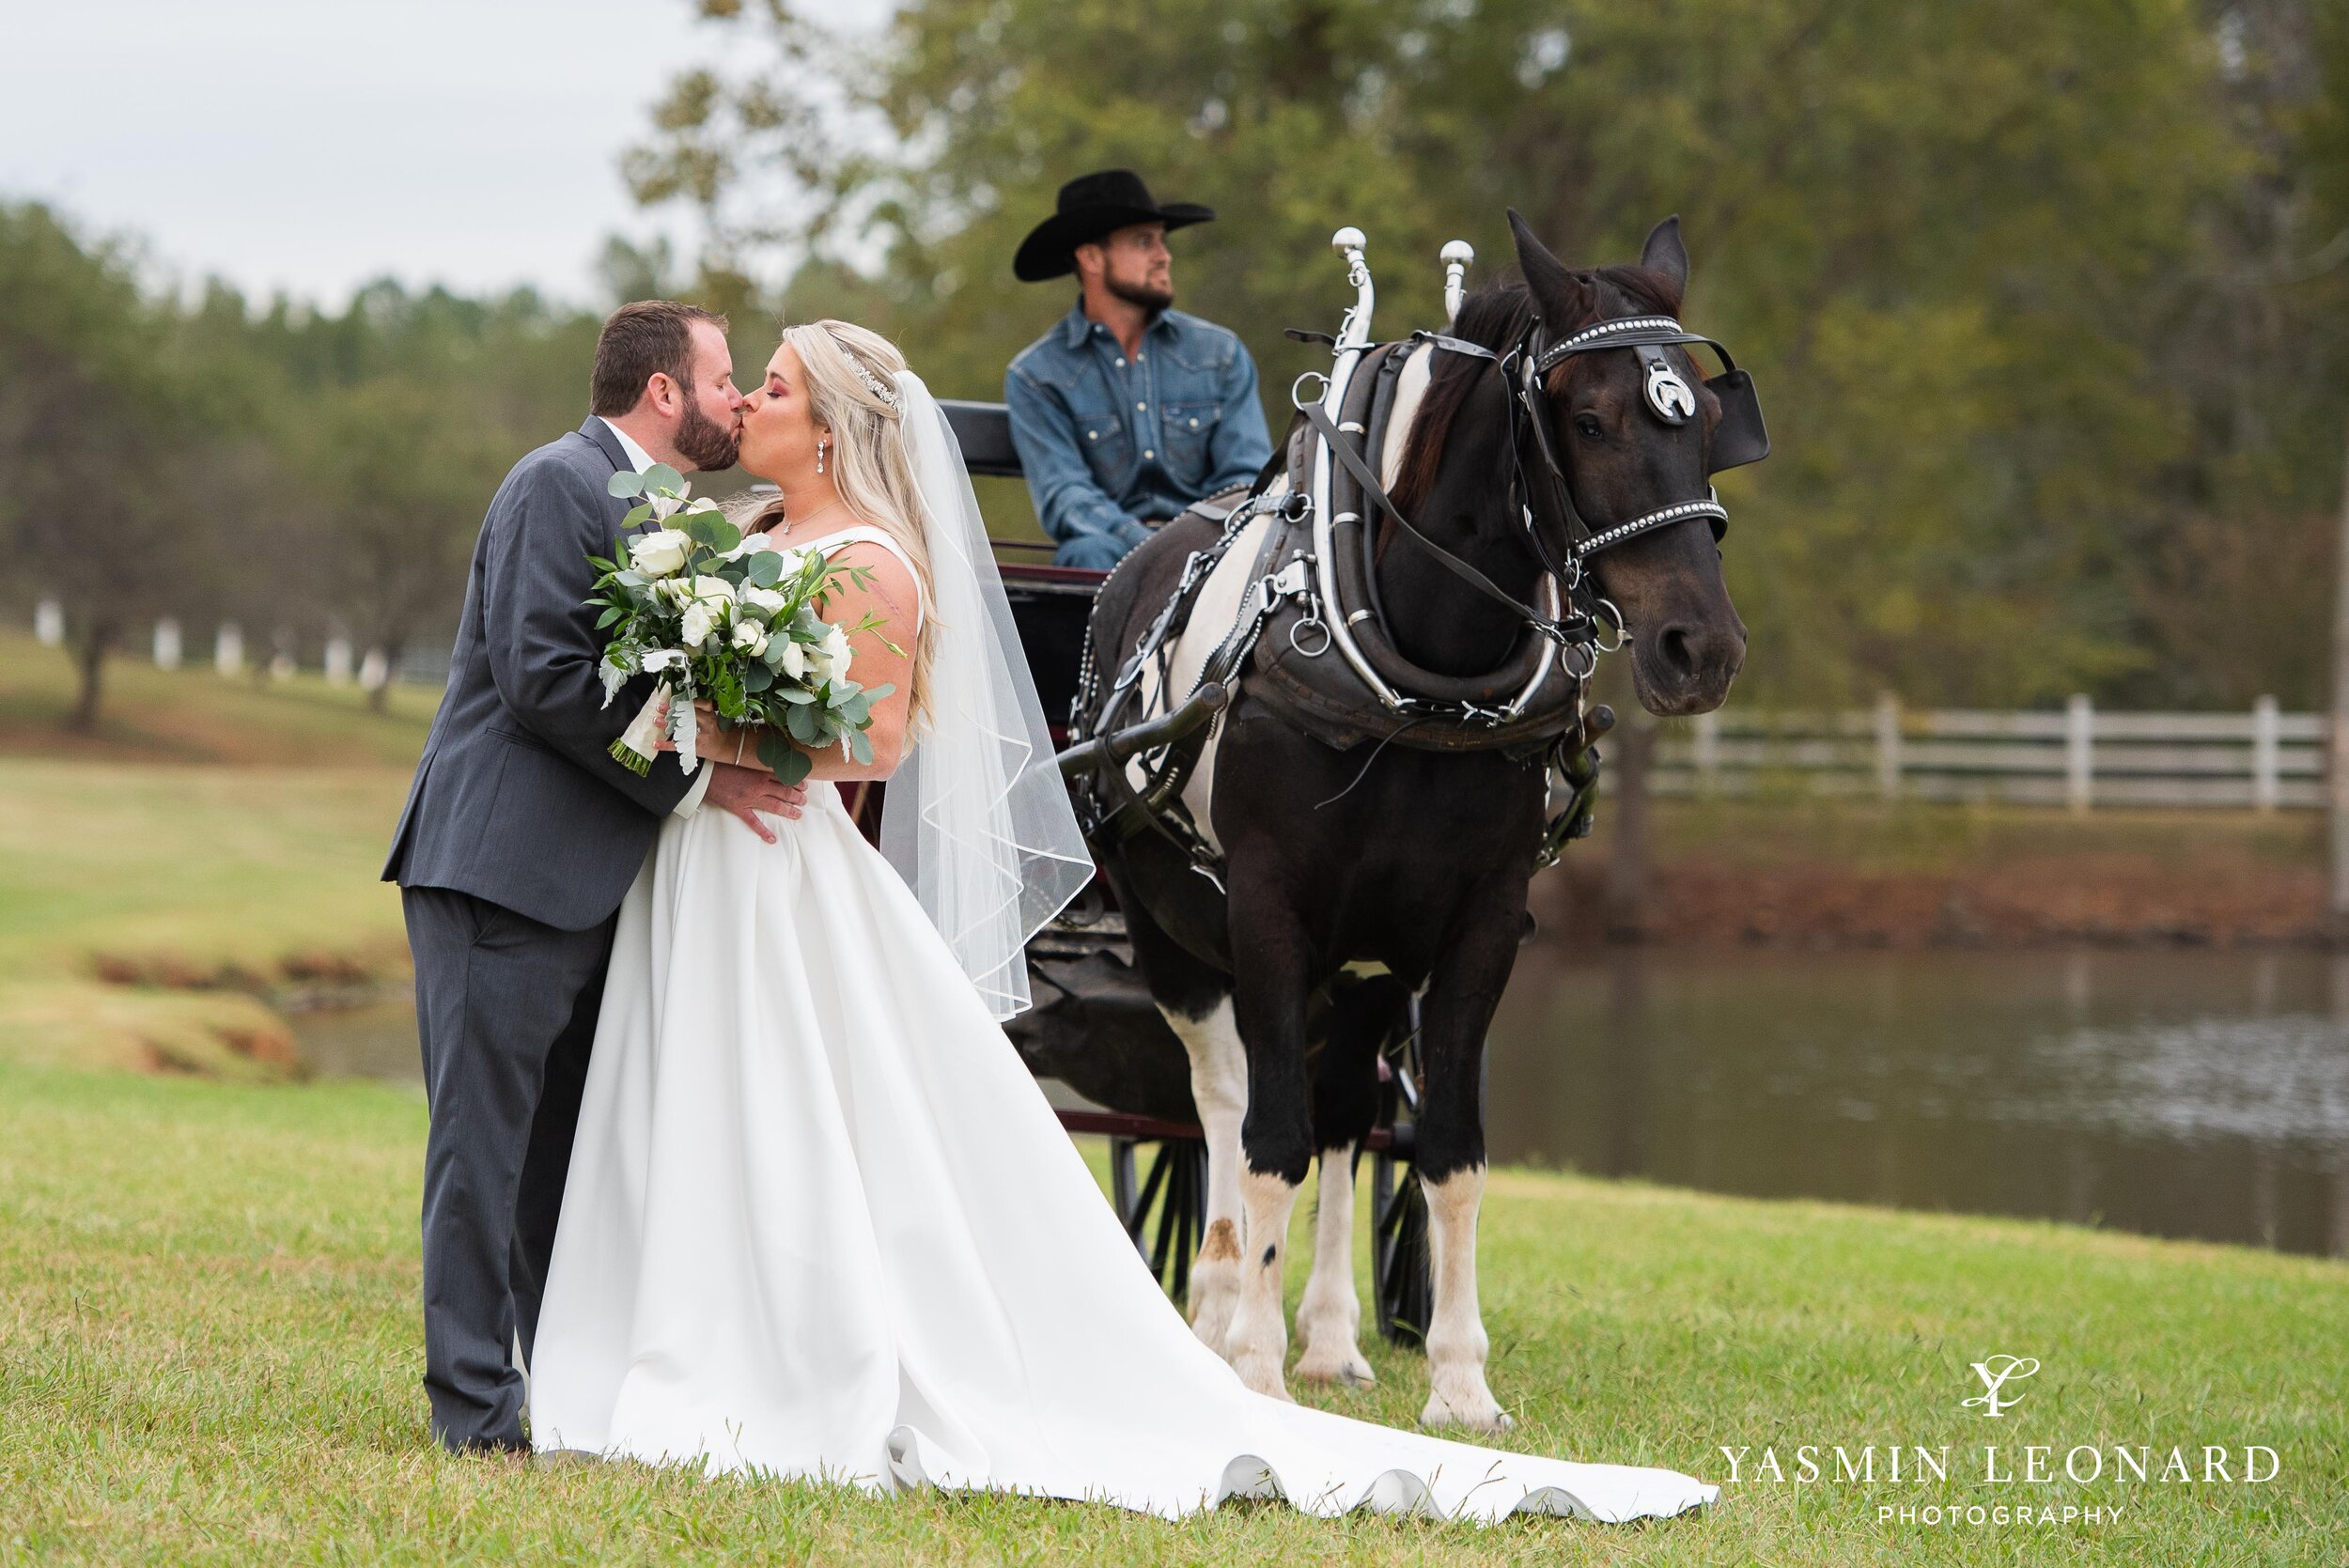
[[[940,404],[972,477],[1019,479],[1003,404]],[[1052,739],[1066,744],[1085,624],[1109,573],[1052,566],[1052,547],[994,540],[1003,589]],[[1043,556],[1043,559],[1038,559]],[[1142,737],[1137,737],[1142,739]],[[1073,758],[1069,763],[1076,765]],[[876,822],[869,803],[860,819]],[[1059,1080],[1085,1106],[1059,1108],[1073,1134],[1109,1138],[1111,1197],[1125,1232],[1177,1300],[1205,1225],[1207,1145],[1191,1101],[1189,1061],[1132,967],[1125,922],[1104,878],[1029,941],[1036,1005],[1005,1028],[1038,1077]],[[1426,1336],[1431,1310],[1426,1197],[1412,1181],[1416,1113],[1414,1042],[1379,1063],[1372,1160],[1372,1286],[1379,1333],[1398,1345]]]

